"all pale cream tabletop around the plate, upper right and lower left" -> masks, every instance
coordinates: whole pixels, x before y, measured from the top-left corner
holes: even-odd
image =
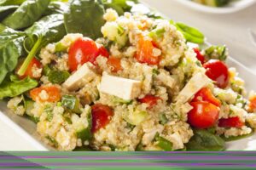
[[[212,44],[226,44],[230,55],[256,71],[256,47],[250,41],[248,28],[256,32],[256,4],[234,14],[205,14],[183,6],[175,0],[143,0],[150,6],[204,32]],[[0,150],[38,150],[24,136],[17,133],[9,122],[0,120]]]

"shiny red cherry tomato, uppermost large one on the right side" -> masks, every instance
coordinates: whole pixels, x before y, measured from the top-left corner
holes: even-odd
[[[229,70],[224,62],[218,59],[210,59],[203,65],[207,70],[207,77],[217,83],[218,88],[226,88],[229,84]]]

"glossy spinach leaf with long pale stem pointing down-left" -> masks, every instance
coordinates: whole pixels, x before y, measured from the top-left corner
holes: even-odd
[[[27,66],[38,51],[50,42],[58,42],[66,35],[63,14],[51,14],[26,30],[28,37],[25,40],[25,48],[30,50],[25,61],[18,71],[18,75],[24,75]]]

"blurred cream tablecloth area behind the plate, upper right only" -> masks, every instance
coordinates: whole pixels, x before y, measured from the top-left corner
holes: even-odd
[[[253,45],[248,31],[250,28],[256,35],[256,3],[233,13],[213,14],[189,8],[181,1],[188,0],[143,0],[168,18],[198,28],[207,42],[225,44],[231,57],[256,71],[256,43]]]

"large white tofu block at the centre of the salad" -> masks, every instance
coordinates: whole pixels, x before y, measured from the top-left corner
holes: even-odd
[[[122,77],[113,77],[104,72],[99,91],[121,99],[135,99],[141,93],[141,82]]]

